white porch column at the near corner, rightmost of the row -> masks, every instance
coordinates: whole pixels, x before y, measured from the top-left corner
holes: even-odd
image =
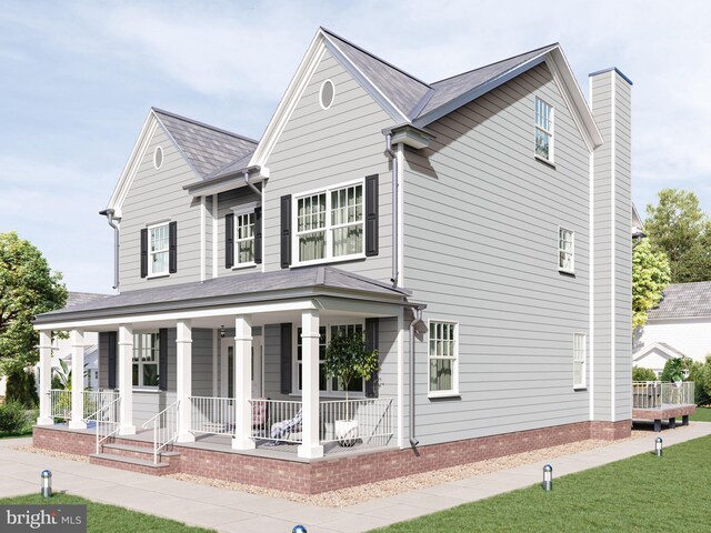
[[[319,312],[307,310],[301,313],[301,372],[303,409],[303,440],[298,450],[300,457],[323,456],[319,443]]]

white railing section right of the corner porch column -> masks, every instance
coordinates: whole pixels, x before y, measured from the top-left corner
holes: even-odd
[[[392,438],[391,398],[320,403],[320,441],[384,446]]]

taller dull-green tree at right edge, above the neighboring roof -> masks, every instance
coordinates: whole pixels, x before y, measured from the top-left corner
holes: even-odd
[[[669,258],[672,283],[711,280],[711,220],[693,192],[659,191],[659,204],[647,205],[644,232],[653,251]]]

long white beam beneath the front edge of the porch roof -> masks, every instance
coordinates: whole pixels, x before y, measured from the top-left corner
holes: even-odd
[[[296,300],[291,302],[278,302],[278,303],[251,303],[246,305],[232,305],[232,306],[216,306],[207,309],[193,309],[181,311],[169,311],[159,313],[144,313],[144,314],[126,314],[117,315],[106,319],[84,319],[73,321],[58,321],[53,323],[44,323],[36,325],[37,331],[48,330],[70,330],[77,328],[100,328],[119,324],[140,324],[144,322],[156,321],[178,321],[178,320],[191,320],[191,319],[207,319],[211,316],[234,316],[238,314],[260,314],[260,313],[277,313],[284,311],[303,311],[303,310],[317,310],[320,306],[314,300]]]

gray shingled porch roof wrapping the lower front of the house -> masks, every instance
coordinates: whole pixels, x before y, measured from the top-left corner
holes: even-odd
[[[323,293],[324,290],[326,293],[333,291],[360,292],[391,298],[402,298],[409,294],[403,289],[395,289],[377,280],[334,269],[333,266],[308,266],[128,291],[87,301],[71,308],[67,306],[58,311],[42,313],[37,316],[37,322],[51,322],[64,314],[76,315],[77,313],[90,311],[110,311],[116,314],[129,308],[151,304],[167,304],[171,309],[177,309],[180,306],[180,302],[186,302],[187,306],[194,308],[201,304],[219,305],[223,303],[271,301],[277,291],[288,291],[289,295],[283,298],[290,298],[292,295],[303,296],[303,293],[318,295],[318,293]],[[299,292],[299,294],[291,294],[292,292]]]

